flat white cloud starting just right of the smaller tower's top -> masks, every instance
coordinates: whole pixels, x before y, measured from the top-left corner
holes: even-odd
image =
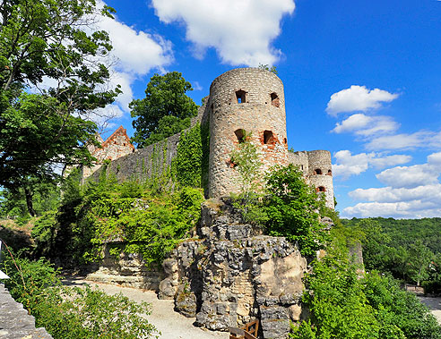
[[[411,156],[406,155],[383,156],[375,152],[352,155],[347,149],[336,152],[333,157],[336,160],[333,164],[333,175],[340,176],[342,179],[348,179],[351,175],[359,175],[368,168],[385,168],[411,161]]]

